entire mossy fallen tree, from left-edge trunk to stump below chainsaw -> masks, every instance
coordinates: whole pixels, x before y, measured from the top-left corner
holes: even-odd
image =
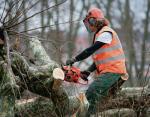
[[[9,40],[7,32],[5,33],[5,40]],[[6,43],[9,43],[9,41]],[[37,38],[31,38],[28,41],[28,45],[35,59],[34,65],[30,66],[19,53],[9,51],[7,51],[6,55],[7,59],[11,60],[11,66],[9,66],[9,62],[4,61],[3,63],[1,61],[1,76],[5,81],[1,82],[1,100],[3,100],[4,105],[8,105],[7,108],[2,106],[1,115],[9,117],[14,115],[16,97],[19,97],[24,89],[51,99],[58,116],[65,116],[68,112],[70,112],[70,115],[73,114],[78,109],[73,106],[80,106],[79,99],[77,97],[69,98],[62,88],[61,82],[59,84],[55,83],[58,86],[53,88],[55,80],[52,77],[52,72],[59,65],[50,59]],[[9,50],[7,44],[4,50]],[[12,68],[11,71],[10,68]],[[8,100],[7,97],[11,99]],[[1,105],[3,104],[1,103]],[[8,115],[8,113],[10,114]]]

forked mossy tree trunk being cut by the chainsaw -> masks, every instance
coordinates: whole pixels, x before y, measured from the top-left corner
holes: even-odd
[[[29,48],[34,57],[35,65],[33,66],[30,66],[18,53],[11,53],[12,68],[15,75],[19,76],[19,84],[33,93],[52,99],[58,116],[65,116],[69,114],[68,112],[73,114],[72,112],[80,106],[79,99],[69,98],[61,84],[56,89],[52,89],[55,82],[52,72],[59,65],[50,59],[37,38],[29,40]],[[75,108],[74,104],[78,105],[78,108]]]

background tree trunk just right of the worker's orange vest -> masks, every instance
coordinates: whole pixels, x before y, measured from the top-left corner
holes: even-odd
[[[125,31],[125,39],[126,39],[126,46],[128,49],[128,73],[129,73],[129,82],[131,86],[134,86],[135,80],[134,80],[134,73],[135,71],[134,66],[135,61],[136,61],[136,57],[135,57],[135,48],[134,48],[134,39],[133,39],[133,20],[132,17],[130,15],[131,10],[130,10],[130,2],[129,0],[125,1],[125,16],[124,16],[124,23],[123,23],[123,29]]]

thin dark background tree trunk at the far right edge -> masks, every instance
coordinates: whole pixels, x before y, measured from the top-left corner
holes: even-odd
[[[144,36],[143,36],[143,43],[142,43],[142,50],[141,50],[141,65],[140,65],[140,75],[139,78],[142,79],[144,78],[144,72],[145,72],[145,61],[146,61],[146,43],[148,41],[148,28],[149,28],[149,19],[150,19],[150,0],[147,0],[147,11],[146,11],[146,18],[144,22]],[[142,84],[141,84],[142,85]]]

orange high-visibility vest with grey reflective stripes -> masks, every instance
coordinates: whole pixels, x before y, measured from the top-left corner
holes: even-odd
[[[97,73],[119,73],[126,74],[125,55],[117,33],[108,26],[103,27],[94,37],[96,38],[103,32],[112,33],[112,41],[110,44],[105,44],[93,54],[93,60],[97,67]]]

